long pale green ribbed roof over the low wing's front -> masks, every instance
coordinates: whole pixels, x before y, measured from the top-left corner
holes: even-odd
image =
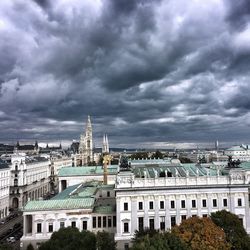
[[[43,211],[56,209],[92,209],[94,201],[94,198],[29,201],[24,207],[24,211]]]

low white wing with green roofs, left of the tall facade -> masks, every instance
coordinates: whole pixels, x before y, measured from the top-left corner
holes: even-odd
[[[36,249],[62,227],[115,233],[113,185],[98,182],[76,184],[46,201],[30,201],[23,211],[21,249],[31,243]]]

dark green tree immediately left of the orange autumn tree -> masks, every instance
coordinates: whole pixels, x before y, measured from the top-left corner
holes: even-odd
[[[188,250],[187,245],[171,232],[136,231],[132,250]]]

